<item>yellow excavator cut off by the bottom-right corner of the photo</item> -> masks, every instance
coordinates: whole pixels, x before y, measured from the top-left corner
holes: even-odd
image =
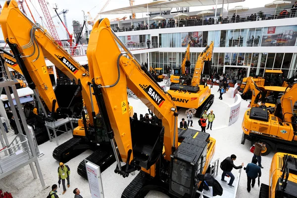
[[[277,152],[269,170],[269,185],[261,184],[259,198],[297,198],[297,155]]]

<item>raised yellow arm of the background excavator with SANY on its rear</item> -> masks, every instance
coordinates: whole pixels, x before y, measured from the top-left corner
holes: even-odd
[[[192,86],[198,86],[201,79],[201,73],[204,67],[204,61],[211,61],[213,52],[213,42],[210,43],[198,56],[196,65],[194,68],[194,74],[192,78]]]

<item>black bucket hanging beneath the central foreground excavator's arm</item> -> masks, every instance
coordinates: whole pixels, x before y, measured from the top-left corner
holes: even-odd
[[[133,119],[131,137],[134,160],[148,170],[162,154],[164,127]]]

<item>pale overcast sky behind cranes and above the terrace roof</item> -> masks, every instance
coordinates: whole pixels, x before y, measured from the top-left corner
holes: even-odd
[[[147,3],[152,0],[135,0],[135,4],[142,4]],[[245,7],[249,8],[255,8],[255,7],[264,7],[266,3],[271,2],[272,0],[245,0],[243,2],[238,3],[230,3],[229,8],[235,7],[237,5],[243,5]],[[3,5],[5,0],[0,0],[0,4]],[[43,16],[43,13],[41,11],[40,5],[38,3],[38,0],[27,0],[28,5],[32,11],[33,16],[35,17],[35,20],[43,25],[45,24],[45,19]],[[58,9],[57,12],[62,11],[63,9],[69,9],[68,13],[66,13],[67,23],[68,23],[68,29],[70,33],[73,33],[72,28],[72,20],[78,20],[80,23],[83,23],[84,20],[84,14],[83,11],[85,11],[85,14],[87,15],[87,12],[90,12],[91,16],[93,18],[96,17],[97,13],[100,11],[102,6],[105,4],[106,0],[46,0],[48,4],[48,8],[50,11],[51,16],[55,15],[53,7],[55,7],[55,4],[57,5]],[[104,11],[116,9],[120,7],[127,7],[129,6],[129,0],[110,0],[108,5],[105,7]],[[198,11],[198,10],[207,10],[212,9],[213,6],[201,6],[201,7],[190,7],[190,11]],[[222,7],[221,5],[218,5],[218,8]],[[224,8],[227,9],[227,4],[224,4]],[[272,8],[273,9],[273,8]],[[82,11],[83,10],[83,11]],[[27,15],[32,20],[32,17],[29,14],[28,8],[25,7],[25,11],[27,12]],[[142,16],[145,16],[146,13],[137,13],[137,18],[142,18]],[[43,17],[43,21],[41,20],[40,16]],[[101,18],[107,17],[109,19],[114,19],[117,17],[123,17],[125,14],[122,15],[102,15]],[[129,18],[129,15],[126,15]],[[61,15],[61,18],[63,20],[63,16]],[[89,19],[89,17],[88,17]],[[53,18],[53,22],[56,26],[58,35],[60,39],[66,39],[67,33],[59,21],[58,17]],[[45,27],[48,29],[47,27]],[[92,29],[92,26],[88,26],[89,30]],[[0,39],[3,38],[2,34],[0,35]]]

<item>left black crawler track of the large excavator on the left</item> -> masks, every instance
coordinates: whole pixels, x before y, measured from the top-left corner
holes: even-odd
[[[79,145],[83,140],[80,138],[71,138],[70,140],[64,142],[63,144],[57,146],[52,151],[52,157],[57,161],[66,163],[70,159],[76,157],[77,155],[84,152],[86,149],[79,149],[74,151],[74,147]]]

